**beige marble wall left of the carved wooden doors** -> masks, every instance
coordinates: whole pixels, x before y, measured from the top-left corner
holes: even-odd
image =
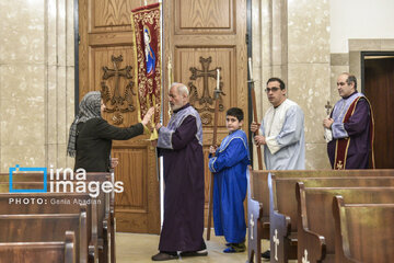
[[[72,167],[73,0],[0,1],[0,171]]]

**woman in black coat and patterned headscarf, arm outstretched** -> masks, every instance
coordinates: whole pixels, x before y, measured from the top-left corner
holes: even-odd
[[[76,158],[74,170],[83,168],[86,172],[108,172],[113,168],[109,157],[112,140],[127,140],[142,135],[154,112],[151,107],[141,123],[119,128],[102,118],[104,110],[100,91],[91,91],[83,96],[79,114],[70,127],[67,147],[67,153]]]

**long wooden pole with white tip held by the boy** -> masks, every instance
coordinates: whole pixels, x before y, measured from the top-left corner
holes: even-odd
[[[219,115],[219,94],[222,91],[219,89],[220,83],[220,71],[218,70],[217,76],[217,89],[215,90],[215,117],[213,117],[213,136],[212,136],[212,146],[217,145],[217,136],[218,136],[218,115]],[[215,157],[215,153],[212,153]],[[210,240],[210,229],[211,229],[211,221],[212,221],[212,209],[213,209],[213,173],[210,173],[210,183],[209,183],[209,203],[208,203],[208,226],[207,226],[207,240]]]

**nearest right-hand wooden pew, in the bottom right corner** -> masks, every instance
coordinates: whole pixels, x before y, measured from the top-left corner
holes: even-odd
[[[337,263],[385,263],[394,259],[394,204],[346,204],[334,197]]]

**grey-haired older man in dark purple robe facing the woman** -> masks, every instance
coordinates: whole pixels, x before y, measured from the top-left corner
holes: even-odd
[[[153,261],[207,255],[204,232],[202,125],[188,103],[188,89],[173,83],[169,94],[173,115],[157,125],[158,150],[164,161],[164,221],[160,252]]]

